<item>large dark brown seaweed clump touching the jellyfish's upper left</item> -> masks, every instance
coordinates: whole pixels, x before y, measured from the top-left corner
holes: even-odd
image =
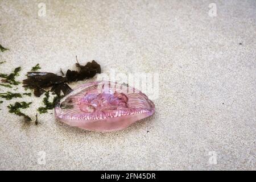
[[[101,66],[94,60],[84,66],[77,61],[76,67],[79,68],[79,71],[68,69],[65,76],[62,70],[63,76],[49,72],[28,72],[27,79],[23,80],[23,87],[33,89],[36,97],[40,97],[46,92],[46,89],[51,88],[51,91],[60,97],[61,92],[66,95],[72,91],[67,83],[92,78],[97,73],[101,73]]]

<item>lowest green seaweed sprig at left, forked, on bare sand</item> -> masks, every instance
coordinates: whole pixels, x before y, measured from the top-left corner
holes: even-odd
[[[9,106],[7,106],[9,108],[9,113],[13,113],[16,114],[18,116],[22,116],[24,117],[25,121],[31,121],[32,119],[30,117],[28,117],[28,115],[22,113],[20,111],[20,109],[26,109],[30,106],[30,104],[32,104],[32,102],[15,102],[14,105],[10,104]]]

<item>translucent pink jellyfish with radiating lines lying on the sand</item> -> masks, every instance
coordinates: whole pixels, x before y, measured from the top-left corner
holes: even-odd
[[[55,117],[73,127],[108,132],[125,129],[154,111],[154,103],[141,91],[98,81],[82,84],[62,98],[55,107]]]

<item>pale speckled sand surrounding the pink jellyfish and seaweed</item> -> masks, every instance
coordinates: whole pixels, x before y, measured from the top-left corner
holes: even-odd
[[[1,170],[256,169],[254,0],[0,0],[0,44],[0,73],[21,67],[18,81],[36,64],[75,70],[76,56],[102,73],[159,75],[155,114],[113,133],[70,127],[53,110],[35,125],[44,96],[0,98]],[[9,113],[16,101],[32,102],[29,125]]]

